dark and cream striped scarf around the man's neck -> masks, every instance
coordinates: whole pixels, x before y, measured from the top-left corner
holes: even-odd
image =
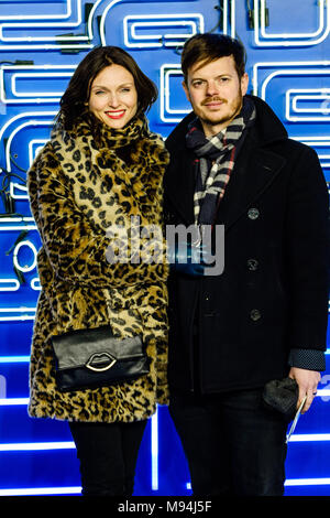
[[[224,195],[226,186],[238,153],[243,144],[246,128],[255,120],[254,104],[250,98],[243,98],[241,112],[226,131],[220,131],[212,138],[206,138],[199,120],[194,119],[188,126],[186,136],[187,148],[196,154],[196,188],[194,195],[194,214],[196,225],[215,223],[217,208]]]

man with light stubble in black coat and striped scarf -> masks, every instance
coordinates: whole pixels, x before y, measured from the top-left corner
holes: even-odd
[[[194,495],[283,495],[292,417],[264,386],[295,379],[306,412],[324,369],[327,184],[315,151],[246,95],[244,56],[226,35],[186,42],[194,111],[167,139],[167,224],[224,225],[221,274],[169,279],[169,411]]]

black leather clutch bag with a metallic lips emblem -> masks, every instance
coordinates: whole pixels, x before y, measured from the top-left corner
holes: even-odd
[[[109,386],[148,373],[141,336],[118,338],[107,325],[53,336],[52,344],[62,391]]]

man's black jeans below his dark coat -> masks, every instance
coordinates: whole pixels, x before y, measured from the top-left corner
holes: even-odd
[[[282,496],[288,421],[261,390],[172,396],[194,496]]]

